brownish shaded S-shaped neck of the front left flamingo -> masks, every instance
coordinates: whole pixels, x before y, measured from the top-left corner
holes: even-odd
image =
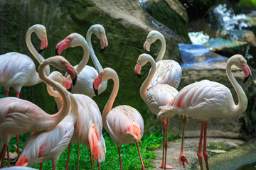
[[[43,62],[39,67],[38,67],[38,73],[40,79],[46,83],[47,85],[51,86],[53,89],[58,91],[60,94],[60,97],[62,98],[63,105],[58,111],[58,113],[55,113],[54,115],[49,115],[51,119],[53,120],[53,124],[51,125],[52,127],[55,127],[60,123],[63,118],[68,114],[70,111],[70,97],[68,95],[68,91],[66,91],[63,86],[61,86],[59,83],[53,81],[52,79],[48,78],[46,76],[46,73],[44,72],[44,69],[46,68],[47,65],[49,65],[50,62]]]

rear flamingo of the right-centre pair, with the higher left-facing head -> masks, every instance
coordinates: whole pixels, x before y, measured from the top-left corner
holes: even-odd
[[[156,72],[154,74],[154,77],[151,78],[151,82],[147,88],[150,89],[152,86],[155,86],[156,84],[169,84],[170,86],[173,86],[175,89],[177,89],[181,81],[182,70],[178,62],[174,60],[162,60],[164,57],[164,53],[166,51],[166,40],[164,39],[164,36],[161,33],[159,33],[159,31],[157,30],[151,30],[149,34],[146,36],[146,40],[144,42],[144,50],[146,50],[146,52],[150,52],[150,45],[154,43],[156,40],[161,41],[161,49],[159,51],[158,56],[156,57]],[[162,103],[162,104],[166,105],[166,103]],[[159,111],[157,113],[159,113]],[[155,115],[157,115],[157,113],[154,112]],[[185,124],[186,117],[183,117],[183,119],[184,119],[183,124]],[[166,166],[166,164],[164,164],[164,155],[165,155],[164,147],[166,147],[164,143],[164,137],[165,137],[165,131],[167,131],[167,128],[168,128],[166,127],[166,130],[165,130],[165,127],[166,127],[166,118],[163,119],[163,156],[162,156],[161,166],[159,167],[161,169],[165,169],[165,168],[171,169],[172,168],[171,166]],[[183,125],[183,131],[184,131],[184,128],[185,128],[185,125]],[[183,138],[182,138],[182,142],[183,142]],[[183,152],[181,154],[183,155],[183,157],[185,157]],[[181,157],[180,157],[180,160],[181,160]],[[183,163],[185,161],[188,163],[188,160],[186,159],[186,157],[185,159],[182,159],[182,160],[184,160]]]

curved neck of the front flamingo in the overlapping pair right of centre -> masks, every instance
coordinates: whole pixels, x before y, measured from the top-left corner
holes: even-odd
[[[154,59],[152,57],[148,58],[148,62],[150,62],[150,64],[151,64],[151,69],[149,71],[148,77],[146,77],[141,88],[139,89],[139,94],[144,101],[146,100],[146,89],[148,88],[148,86],[156,72],[156,62],[154,61]]]

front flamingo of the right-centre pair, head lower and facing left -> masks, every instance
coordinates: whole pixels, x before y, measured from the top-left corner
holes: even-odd
[[[178,91],[168,84],[155,84],[151,86],[150,89],[149,83],[151,82],[152,77],[154,77],[154,74],[156,72],[156,62],[154,61],[153,57],[151,55],[142,54],[139,55],[139,58],[137,60],[137,64],[135,66],[134,71],[141,76],[141,70],[142,67],[147,63],[151,63],[151,69],[149,72],[148,77],[145,79],[144,83],[142,84],[141,88],[139,89],[139,94],[142,97],[143,101],[146,103],[146,106],[149,107],[149,110],[157,115],[160,111],[159,106],[165,106],[176,94],[178,94]],[[148,89],[148,90],[147,90]],[[167,119],[166,123],[166,135],[168,133],[168,123],[169,119]],[[165,136],[164,136],[165,137]],[[167,151],[167,137],[166,140],[163,142],[163,153],[165,155],[163,158],[166,158],[166,151]],[[165,150],[164,150],[165,149]],[[165,162],[162,162],[162,165],[166,165],[166,159]],[[169,168],[174,169],[172,166],[160,166],[160,168]]]

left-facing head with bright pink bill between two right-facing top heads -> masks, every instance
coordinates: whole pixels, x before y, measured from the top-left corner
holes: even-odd
[[[60,55],[61,52],[63,52],[63,50],[67,49],[68,47],[76,47],[81,45],[82,41],[85,41],[85,38],[78,33],[72,33],[68,35],[68,37],[58,42],[56,45],[55,55]]]

